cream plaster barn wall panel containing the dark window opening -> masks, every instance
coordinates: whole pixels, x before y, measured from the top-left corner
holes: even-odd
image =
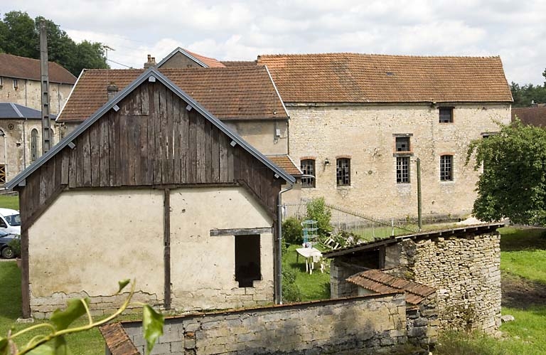
[[[272,218],[240,187],[171,190],[173,307],[218,309],[272,302],[272,233],[260,236],[262,280],[247,288],[235,281],[235,237],[210,236],[212,229],[272,225]]]

